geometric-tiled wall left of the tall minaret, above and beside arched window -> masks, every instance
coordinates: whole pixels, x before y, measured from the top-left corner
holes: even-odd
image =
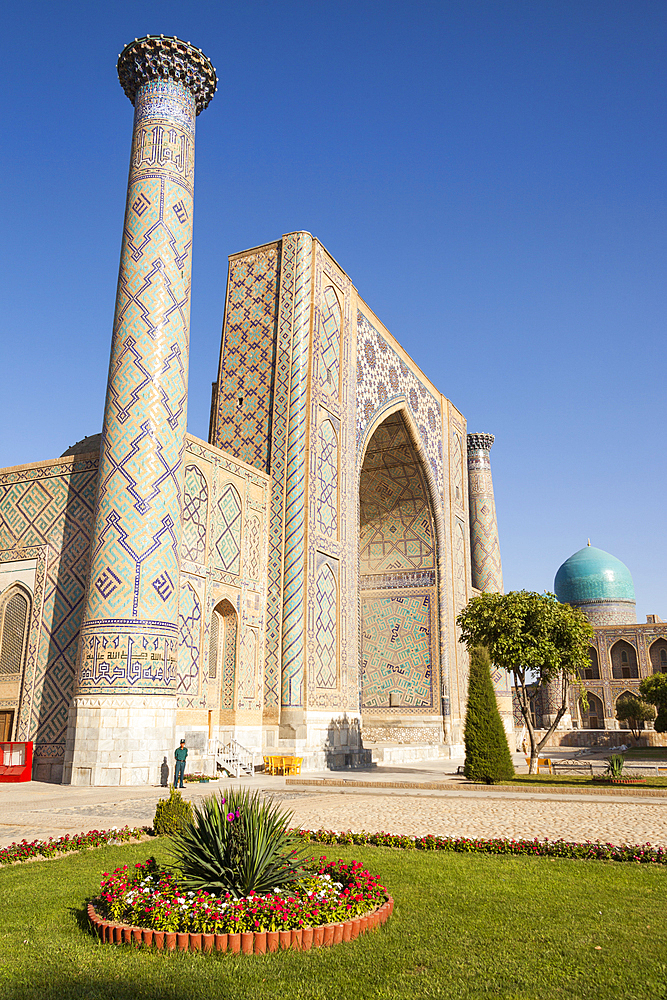
[[[38,560],[16,738],[56,755],[74,691],[97,462],[77,457],[0,476],[0,550],[9,550],[0,561]]]

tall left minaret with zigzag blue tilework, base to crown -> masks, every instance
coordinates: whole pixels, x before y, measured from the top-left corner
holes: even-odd
[[[171,762],[187,414],[195,118],[217,86],[200,49],[135,39],[134,104],[98,494],[64,781],[145,784]]]

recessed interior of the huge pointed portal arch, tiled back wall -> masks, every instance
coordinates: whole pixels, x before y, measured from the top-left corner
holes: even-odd
[[[368,443],[359,507],[364,725],[439,714],[435,525],[400,411]]]

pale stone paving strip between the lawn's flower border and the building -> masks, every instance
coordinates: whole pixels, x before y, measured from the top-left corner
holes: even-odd
[[[219,786],[186,789],[197,801]],[[257,787],[257,786],[255,786]],[[150,826],[155,803],[165,789],[114,800],[95,790],[97,802],[68,800],[68,792],[52,786],[48,802],[14,803],[0,808],[0,846],[12,841],[46,839],[112,826]],[[1,796],[1,793],[0,793]],[[61,797],[62,796],[62,797]],[[549,838],[651,843],[667,846],[667,796],[664,800],[600,801],[544,795],[465,792],[429,794],[375,791],[364,793],[276,789],[275,798],[294,812],[294,825],[307,829],[366,830],[420,836]],[[2,801],[0,798],[0,807]]]

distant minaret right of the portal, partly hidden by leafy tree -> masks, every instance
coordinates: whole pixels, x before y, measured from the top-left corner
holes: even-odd
[[[473,587],[483,593],[502,594],[503,567],[489,457],[494,441],[493,434],[468,434],[470,548]],[[498,709],[509,736],[514,729],[510,675],[505,670],[494,669],[492,677]]]

